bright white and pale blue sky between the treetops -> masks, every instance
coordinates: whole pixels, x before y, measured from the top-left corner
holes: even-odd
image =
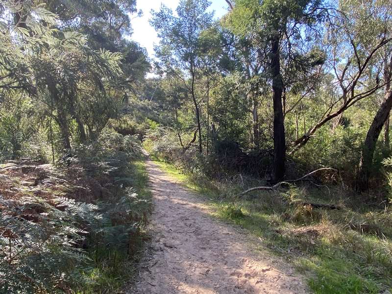
[[[137,0],[137,9],[143,11],[142,17],[132,16],[131,24],[133,34],[131,39],[145,47],[149,57],[154,56],[154,43],[157,44],[159,39],[155,30],[150,26],[148,20],[151,18],[151,9],[159,10],[161,3],[172,8],[175,11],[179,0]],[[209,11],[215,10],[215,17],[219,18],[227,12],[227,3],[225,0],[211,0],[212,4]]]

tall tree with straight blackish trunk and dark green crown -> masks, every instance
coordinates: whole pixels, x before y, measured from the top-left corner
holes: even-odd
[[[287,84],[282,64],[306,73],[309,67],[320,63],[320,56],[308,54],[311,49],[308,44],[312,38],[318,37],[318,26],[324,14],[320,0],[236,0],[229,14],[230,26],[236,34],[253,36],[253,46],[262,53],[262,66],[272,90],[273,182],[281,180],[285,174],[286,138],[282,100]]]

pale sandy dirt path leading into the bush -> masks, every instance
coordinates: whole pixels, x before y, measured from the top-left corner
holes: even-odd
[[[240,229],[211,218],[202,199],[147,161],[151,244],[129,294],[308,293],[278,257],[252,250]]]

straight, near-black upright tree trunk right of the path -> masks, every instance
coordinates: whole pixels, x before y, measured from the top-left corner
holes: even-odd
[[[282,107],[283,79],[280,74],[279,37],[272,40],[271,73],[273,100],[273,170],[272,182],[278,182],[285,175],[286,138]]]

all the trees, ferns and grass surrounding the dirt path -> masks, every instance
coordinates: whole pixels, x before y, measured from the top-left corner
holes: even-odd
[[[152,10],[149,57],[136,0],[0,0],[1,293],[122,289],[143,148],[315,293],[392,291],[392,2],[222,2]]]

